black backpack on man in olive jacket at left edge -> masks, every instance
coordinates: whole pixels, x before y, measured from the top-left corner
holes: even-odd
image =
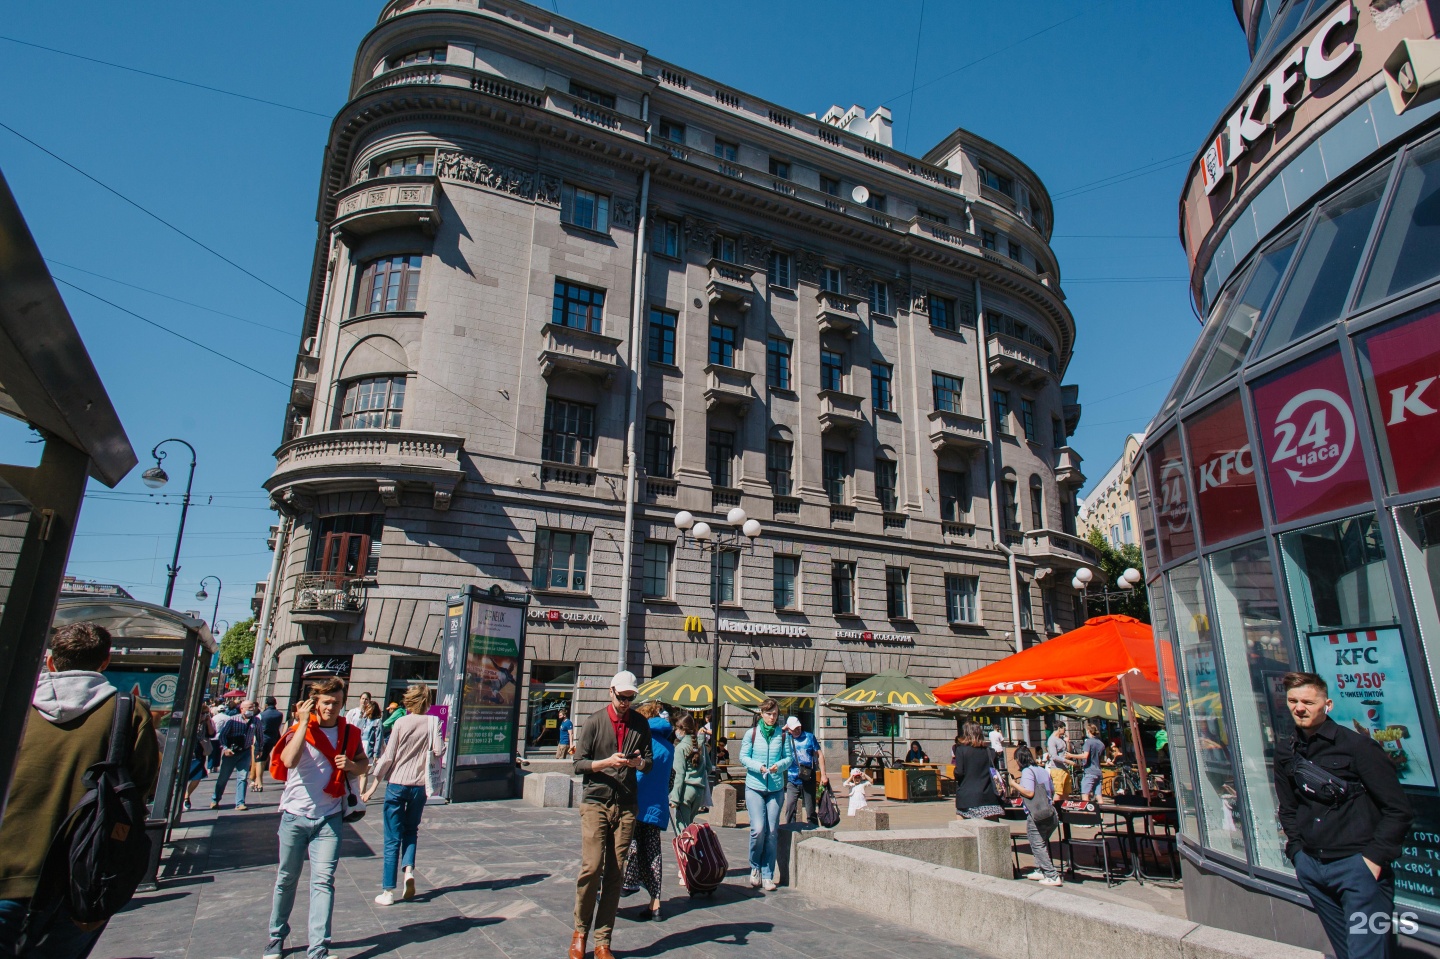
[[[109,752],[85,772],[88,792],[50,839],[24,917],[26,933],[43,929],[62,903],[75,922],[109,919],[131,900],[150,867],[145,796],[130,775],[134,703],[130,693],[115,694]]]

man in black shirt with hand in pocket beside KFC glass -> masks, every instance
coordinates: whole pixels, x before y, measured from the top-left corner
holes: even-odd
[[[1390,863],[1414,818],[1410,799],[1385,750],[1329,717],[1325,680],[1287,672],[1284,691],[1296,730],[1274,757],[1284,854],[1335,958],[1385,959],[1395,907]]]

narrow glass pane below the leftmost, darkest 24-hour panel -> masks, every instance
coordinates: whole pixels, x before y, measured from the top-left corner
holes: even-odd
[[[1169,573],[1169,600],[1184,675],[1185,719],[1195,749],[1195,806],[1204,845],[1246,861],[1246,822],[1236,780],[1234,737],[1220,694],[1215,641],[1200,582],[1200,563]]]

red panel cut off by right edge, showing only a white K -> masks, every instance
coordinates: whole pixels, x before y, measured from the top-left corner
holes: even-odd
[[[1369,333],[1359,348],[1391,491],[1440,485],[1440,312]]]

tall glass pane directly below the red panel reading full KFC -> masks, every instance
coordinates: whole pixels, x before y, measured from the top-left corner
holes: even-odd
[[[1270,550],[1261,540],[1215,553],[1210,575],[1256,865],[1287,873],[1273,782],[1274,747],[1295,734],[1283,678],[1296,662],[1280,628]]]

